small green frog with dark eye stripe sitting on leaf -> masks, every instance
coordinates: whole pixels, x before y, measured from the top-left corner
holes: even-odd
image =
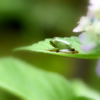
[[[61,40],[59,38],[54,38],[50,41],[50,44],[55,47],[55,49],[52,49],[50,51],[54,52],[60,52],[60,53],[68,53],[68,54],[75,54],[78,53],[75,48],[72,47],[72,45],[64,40]]]

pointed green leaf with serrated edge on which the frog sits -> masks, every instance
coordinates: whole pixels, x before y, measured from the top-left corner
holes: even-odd
[[[50,40],[52,38],[49,39],[45,39],[44,41],[40,41],[38,43],[35,43],[33,45],[30,46],[26,46],[26,47],[20,47],[15,49],[14,51],[19,51],[19,50],[27,50],[27,51],[31,51],[31,52],[40,52],[40,53],[46,53],[46,54],[53,54],[53,55],[59,55],[59,56],[68,56],[68,57],[76,57],[76,58],[88,58],[88,59],[93,59],[93,58],[98,58],[100,57],[100,48],[99,46],[88,51],[88,52],[83,52],[80,48],[81,43],[79,42],[77,37],[64,37],[64,38],[60,38],[62,40],[68,41],[69,43],[71,43],[71,45],[79,52],[78,54],[67,54],[67,53],[58,53],[58,52],[52,52],[50,51],[51,49],[53,49],[54,47],[52,47],[50,45]]]

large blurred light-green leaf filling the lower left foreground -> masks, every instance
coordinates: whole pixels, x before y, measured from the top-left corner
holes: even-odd
[[[21,100],[72,100],[74,96],[62,76],[14,58],[0,59],[0,88]]]

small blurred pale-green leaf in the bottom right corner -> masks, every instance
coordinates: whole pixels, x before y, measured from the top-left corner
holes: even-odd
[[[72,84],[74,93],[80,98],[76,100],[100,100],[100,93],[90,89],[82,81],[74,80]],[[84,98],[82,99],[82,97]]]

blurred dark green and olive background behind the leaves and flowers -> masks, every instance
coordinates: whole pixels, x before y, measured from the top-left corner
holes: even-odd
[[[86,15],[88,0],[0,0],[0,56],[15,56],[67,79],[82,79],[100,91],[96,59],[77,59],[32,52],[12,53],[14,48],[53,37],[78,36],[72,30]]]

